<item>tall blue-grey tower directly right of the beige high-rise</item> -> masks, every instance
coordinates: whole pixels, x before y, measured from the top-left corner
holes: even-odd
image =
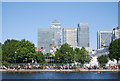
[[[88,23],[78,24],[77,46],[78,47],[89,47],[89,27],[88,27]]]

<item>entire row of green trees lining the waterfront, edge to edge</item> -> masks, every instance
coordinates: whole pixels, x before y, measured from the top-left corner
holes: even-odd
[[[45,57],[52,54],[43,54],[35,51],[35,45],[28,40],[6,40],[4,44],[0,43],[0,61],[3,65],[8,63],[45,63]],[[2,56],[2,57],[1,57]],[[1,60],[2,59],[2,60]],[[84,47],[81,49],[73,49],[67,43],[57,49],[53,56],[54,63],[74,63],[78,62],[82,65],[89,63],[92,59]],[[109,54],[98,57],[98,62],[104,66],[108,60],[120,60],[120,39],[114,40],[109,46]]]

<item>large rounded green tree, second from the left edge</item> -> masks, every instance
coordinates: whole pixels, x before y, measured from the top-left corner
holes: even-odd
[[[32,60],[32,55],[35,53],[35,46],[28,40],[22,39],[16,44],[16,62],[25,63]],[[31,57],[30,57],[31,56]]]

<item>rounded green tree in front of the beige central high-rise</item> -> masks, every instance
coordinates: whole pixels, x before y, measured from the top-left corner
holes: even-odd
[[[67,43],[63,44],[60,49],[57,49],[54,59],[56,63],[73,63],[73,48]]]

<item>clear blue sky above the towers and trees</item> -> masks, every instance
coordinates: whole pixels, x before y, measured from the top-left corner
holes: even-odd
[[[58,20],[62,28],[87,22],[90,47],[97,48],[97,31],[118,26],[117,2],[3,2],[2,43],[27,39],[37,46],[37,30]]]

